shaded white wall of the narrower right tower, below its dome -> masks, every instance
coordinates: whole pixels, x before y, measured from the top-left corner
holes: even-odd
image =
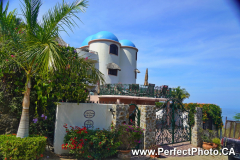
[[[136,84],[136,52],[133,48],[121,48],[120,68],[122,71],[119,74],[119,82],[122,84]]]

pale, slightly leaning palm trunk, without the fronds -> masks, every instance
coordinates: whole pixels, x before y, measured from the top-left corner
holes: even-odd
[[[23,98],[23,109],[20,124],[18,126],[17,137],[28,137],[29,134],[29,106],[30,106],[30,89],[31,89],[31,79],[27,76],[26,91]]]

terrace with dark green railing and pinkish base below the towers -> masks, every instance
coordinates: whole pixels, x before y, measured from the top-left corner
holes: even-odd
[[[149,104],[166,101],[171,97],[172,88],[155,84],[104,84],[98,86],[98,95],[91,95],[90,101],[107,104]],[[95,91],[96,93],[96,91]]]

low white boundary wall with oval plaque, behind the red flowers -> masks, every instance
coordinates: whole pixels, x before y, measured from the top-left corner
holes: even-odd
[[[111,104],[95,104],[95,103],[60,103],[56,110],[56,122],[54,132],[54,152],[56,154],[68,153],[68,150],[62,150],[66,129],[63,125],[66,123],[69,126],[84,126],[86,120],[92,120],[94,128],[109,129],[112,122],[112,113],[109,109]],[[87,110],[95,112],[94,117],[85,118],[84,113]]]

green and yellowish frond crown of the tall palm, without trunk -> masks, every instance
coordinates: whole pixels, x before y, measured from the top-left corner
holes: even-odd
[[[24,2],[25,10],[23,12],[27,23],[26,44],[28,48],[22,56],[29,62],[28,67],[45,73],[63,68],[65,58],[59,52],[56,42],[56,39],[60,37],[61,29],[59,28],[63,28],[63,24],[70,28],[74,26],[72,17],[77,17],[76,13],[83,11],[86,1],[76,1],[71,5],[64,1],[61,5],[57,4],[43,16],[42,24],[37,23],[41,0],[24,0]],[[34,67],[36,65],[38,67]]]

